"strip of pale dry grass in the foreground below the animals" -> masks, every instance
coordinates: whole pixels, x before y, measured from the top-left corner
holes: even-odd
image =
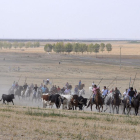
[[[2,120],[0,123],[0,138],[3,138],[3,140],[10,138],[14,140],[117,140],[133,139],[134,136],[135,139],[140,139],[140,118],[136,116],[130,117],[94,112],[86,113],[82,111],[24,108],[21,106],[12,106],[11,110],[12,111],[9,112],[5,105],[0,106],[0,119]],[[33,113],[32,115],[30,114],[31,112]],[[36,113],[40,113],[40,115],[36,116]],[[50,115],[43,117],[43,113],[60,114],[60,116]],[[7,118],[6,116],[9,115],[11,117]],[[98,119],[94,119],[95,116]],[[137,123],[135,123],[135,121],[137,121]]]

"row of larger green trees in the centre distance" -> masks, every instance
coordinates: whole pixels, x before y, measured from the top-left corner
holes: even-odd
[[[85,43],[63,43],[63,42],[58,42],[56,44],[46,44],[44,46],[44,51],[46,52],[52,52],[52,50],[56,53],[61,53],[61,52],[75,52],[75,53],[84,53],[84,52],[94,52],[98,53],[99,51],[112,51],[112,45],[110,43],[108,44],[85,44]]]

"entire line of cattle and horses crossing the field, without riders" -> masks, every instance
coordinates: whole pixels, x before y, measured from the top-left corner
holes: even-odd
[[[116,113],[119,113],[119,106],[123,106],[123,113],[125,113],[125,110],[127,113],[130,113],[131,107],[134,107],[135,109],[135,114],[138,114],[138,109],[139,109],[139,101],[140,101],[140,94],[137,96],[137,99],[134,99],[134,106],[129,107],[129,99],[120,98],[118,94],[115,92],[107,94],[106,97],[102,97],[100,91],[97,92],[95,99],[93,100],[92,96],[88,98],[84,98],[83,95],[85,95],[85,90],[84,89],[79,89],[78,95],[77,94],[62,94],[62,93],[42,93],[40,89],[38,89],[38,92],[36,93],[36,96],[33,95],[33,88],[27,88],[26,91],[23,94],[23,89],[22,86],[19,86],[17,89],[10,90],[9,94],[3,94],[2,99],[3,103],[7,101],[7,103],[13,102],[13,99],[15,96],[18,96],[20,99],[24,100],[35,100],[35,101],[42,101],[43,103],[43,108],[49,106],[53,107],[53,105],[56,105],[56,108],[60,108],[62,106],[62,109],[68,109],[68,110],[74,110],[79,108],[79,110],[83,110],[85,106],[91,107],[92,111],[92,106],[93,104],[96,105],[96,109],[100,112],[100,108],[102,108],[102,111],[106,111],[108,109],[108,106],[110,107],[110,113],[111,113],[111,108],[114,113],[114,110],[116,109]],[[0,101],[1,101],[0,100]],[[135,103],[136,107],[135,107]],[[103,110],[103,105],[105,105],[105,109]]]

